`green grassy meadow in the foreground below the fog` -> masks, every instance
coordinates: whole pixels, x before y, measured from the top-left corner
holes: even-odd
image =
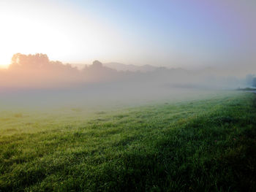
[[[1,112],[0,191],[256,191],[255,94]]]

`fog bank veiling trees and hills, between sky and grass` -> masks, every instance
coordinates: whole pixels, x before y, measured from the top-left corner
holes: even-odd
[[[118,64],[115,64],[116,66]],[[136,106],[251,86],[254,76],[237,77],[220,69],[168,69],[94,61],[80,69],[45,54],[12,57],[0,71],[1,104],[6,109]],[[112,68],[108,67],[111,66]],[[132,70],[129,70],[132,69]]]

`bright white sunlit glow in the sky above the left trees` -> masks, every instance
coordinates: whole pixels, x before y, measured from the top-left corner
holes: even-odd
[[[15,53],[47,53],[53,60],[91,62],[110,53],[116,34],[89,17],[81,17],[64,7],[42,4],[0,3],[0,67],[10,64]],[[48,14],[45,15],[47,9]]]

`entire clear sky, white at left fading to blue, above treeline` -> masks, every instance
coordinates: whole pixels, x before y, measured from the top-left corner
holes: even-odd
[[[71,64],[252,66],[255,0],[1,0],[0,66],[15,53]]]

